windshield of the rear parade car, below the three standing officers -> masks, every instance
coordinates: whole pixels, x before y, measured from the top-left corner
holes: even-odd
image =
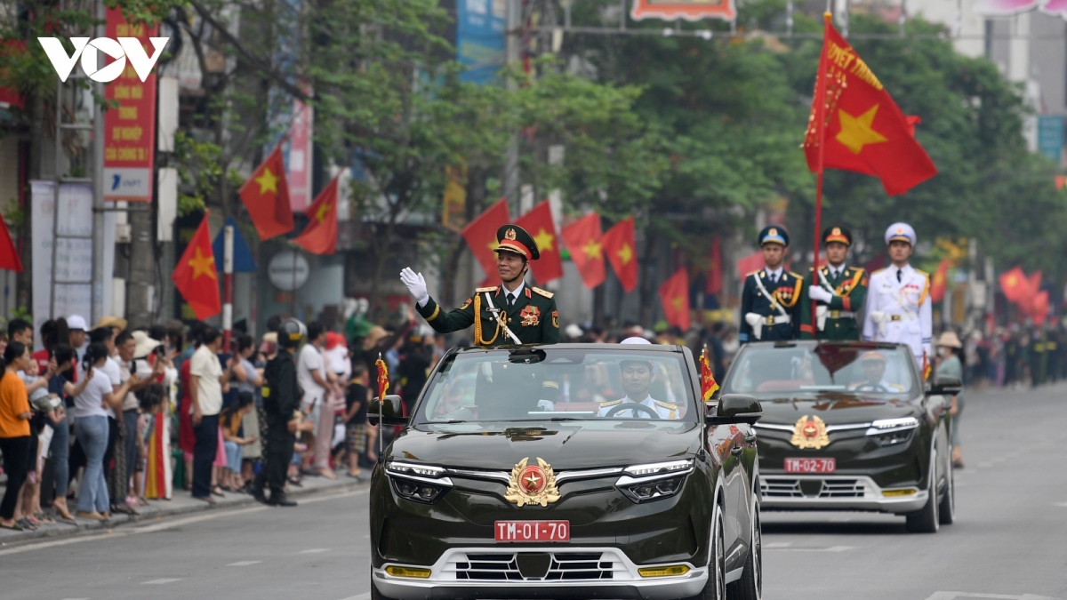
[[[905,348],[806,345],[745,348],[723,393],[862,392],[909,394],[918,385]]]

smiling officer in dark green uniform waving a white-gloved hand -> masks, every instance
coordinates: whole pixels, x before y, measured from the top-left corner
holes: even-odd
[[[559,313],[551,291],[526,285],[529,262],[541,257],[537,242],[519,225],[496,232],[496,269],[500,285],[479,287],[459,309],[444,312],[430,298],[421,273],[400,271],[400,281],[415,297],[415,305],[435,331],[450,333],[474,325],[474,343],[491,348],[559,342]]]

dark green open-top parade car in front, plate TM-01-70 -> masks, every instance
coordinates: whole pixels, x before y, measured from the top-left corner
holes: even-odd
[[[371,598],[755,599],[760,405],[676,346],[449,351],[370,489]]]

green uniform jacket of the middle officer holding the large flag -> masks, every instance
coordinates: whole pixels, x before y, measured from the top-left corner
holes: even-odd
[[[860,327],[856,313],[863,307],[866,300],[867,278],[860,267],[845,267],[833,277],[829,267],[819,268],[827,283],[833,287],[833,298],[829,304],[814,300],[816,306],[826,306],[826,321],[823,329],[818,323],[811,322],[811,303],[813,300],[807,294],[800,300],[800,338],[801,340],[859,340]],[[815,278],[814,271],[805,277],[805,289],[812,285],[821,285],[821,278]],[[819,281],[815,281],[819,280]],[[823,286],[826,289],[826,286]]]

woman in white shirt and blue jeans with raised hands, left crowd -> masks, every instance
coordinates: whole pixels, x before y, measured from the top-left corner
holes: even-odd
[[[103,344],[90,344],[85,350],[84,386],[75,395],[74,432],[85,451],[85,474],[78,494],[78,517],[105,521],[108,512],[108,481],[103,476],[103,453],[108,448],[108,408],[121,407],[129,386],[137,383],[134,375],[117,389],[102,369],[108,361],[108,348]],[[96,370],[101,370],[96,376]]]

